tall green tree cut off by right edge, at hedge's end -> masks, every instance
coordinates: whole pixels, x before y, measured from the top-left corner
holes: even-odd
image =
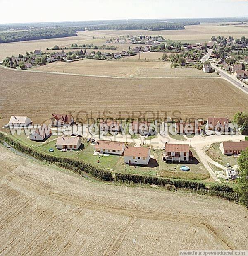
[[[248,148],[238,157],[238,195],[240,202],[248,208]]]

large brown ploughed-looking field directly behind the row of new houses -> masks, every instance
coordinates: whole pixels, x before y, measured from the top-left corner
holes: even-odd
[[[92,111],[94,118],[103,117],[103,111],[110,111],[107,115],[112,117],[119,117],[120,111],[123,117],[131,116],[131,111],[141,111],[142,117],[153,111],[156,117],[160,111],[160,117],[166,112],[183,118],[232,118],[237,111],[248,110],[247,95],[220,78],[118,79],[5,68],[0,68],[0,77],[0,123],[11,115],[41,122],[51,113],[68,111],[75,118],[78,111],[82,111],[79,117],[85,117],[83,111],[90,117]]]

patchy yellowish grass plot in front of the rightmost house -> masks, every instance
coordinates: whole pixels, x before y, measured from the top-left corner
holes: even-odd
[[[219,149],[219,145],[220,143],[211,144],[210,147],[207,149],[206,154],[215,162],[222,164],[224,166],[226,166],[227,163],[230,163],[231,166],[238,164],[237,157],[222,155],[222,152]]]

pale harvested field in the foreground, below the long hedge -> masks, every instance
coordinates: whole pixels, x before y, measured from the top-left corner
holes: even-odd
[[[5,255],[176,255],[248,244],[247,210],[234,203],[93,182],[2,146],[0,206]],[[230,222],[227,216],[236,217]]]

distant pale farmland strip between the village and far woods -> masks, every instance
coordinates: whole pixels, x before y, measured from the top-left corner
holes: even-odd
[[[24,41],[17,43],[1,43],[0,44],[0,60],[6,56],[24,54],[26,51],[34,51],[41,49],[45,51],[46,48],[52,48],[54,45],[70,46],[72,43],[83,44],[93,43],[102,45],[107,38],[116,35],[162,35],[166,39],[178,40],[188,43],[205,42],[215,36],[233,36],[240,38],[241,36],[248,37],[248,27],[245,26],[219,26],[219,23],[203,23],[200,25],[185,26],[185,30],[166,30],[166,31],[145,31],[145,30],[98,30],[98,31],[82,31],[78,32],[78,36],[65,37],[61,39],[42,39],[33,41]],[[93,38],[94,37],[94,38]],[[129,44],[111,44],[118,47],[118,51],[127,50]]]

